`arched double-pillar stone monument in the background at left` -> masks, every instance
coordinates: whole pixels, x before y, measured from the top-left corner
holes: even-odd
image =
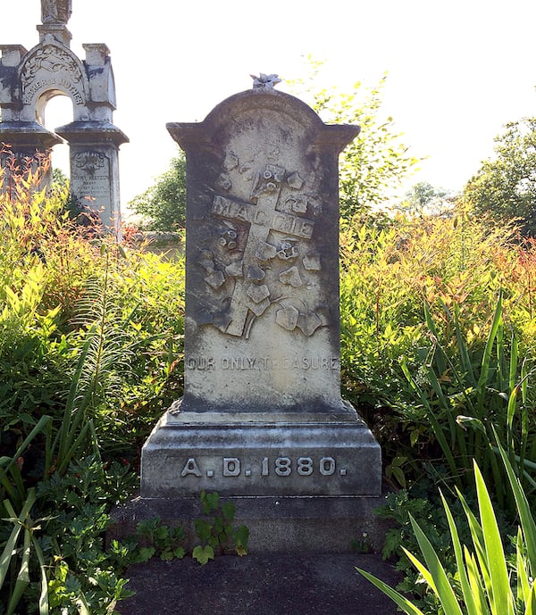
[[[39,43],[0,45],[0,142],[15,156],[46,154],[67,141],[71,156],[71,195],[80,207],[99,213],[105,226],[119,224],[118,154],[128,142],[113,125],[115,85],[110,51],[103,44],[83,45],[86,59],[73,54],[71,0],[41,0]],[[45,109],[54,96],[67,96],[73,121],[45,128]]]

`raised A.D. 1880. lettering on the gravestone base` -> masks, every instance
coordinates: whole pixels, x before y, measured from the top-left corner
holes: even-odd
[[[210,465],[210,461],[205,462]],[[185,461],[180,478],[195,477],[213,478],[220,473],[223,477],[268,477],[277,476],[281,478],[296,474],[299,477],[320,475],[322,477],[332,477],[335,475],[347,476],[346,468],[339,468],[337,461],[331,456],[314,459],[313,457],[264,457],[260,464],[247,463],[239,457],[223,457],[221,461],[214,461],[214,465],[205,468],[201,461],[195,457],[189,457]]]

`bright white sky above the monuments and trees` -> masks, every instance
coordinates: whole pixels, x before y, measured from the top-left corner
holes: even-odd
[[[406,184],[460,190],[493,152],[507,121],[536,115],[534,0],[73,0],[71,49],[111,50],[121,146],[121,202],[154,183],[176,145],[169,121],[202,121],[248,89],[250,73],[306,76],[304,56],[326,61],[321,87],[373,86],[388,71],[384,112],[418,157]],[[2,0],[0,44],[38,43],[39,0]],[[288,88],[281,83],[279,89]],[[61,102],[66,102],[61,104]],[[62,97],[54,129],[71,121]],[[66,166],[61,157],[58,166]],[[67,170],[65,168],[65,170]]]

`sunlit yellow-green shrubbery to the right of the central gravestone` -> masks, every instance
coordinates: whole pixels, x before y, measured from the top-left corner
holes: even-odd
[[[497,479],[492,438],[458,415],[496,421],[521,466],[535,461],[535,246],[514,239],[461,207],[450,218],[350,225],[341,236],[342,386],[380,440],[395,485],[422,477],[423,461],[445,459],[452,479],[471,484],[477,452]]]

